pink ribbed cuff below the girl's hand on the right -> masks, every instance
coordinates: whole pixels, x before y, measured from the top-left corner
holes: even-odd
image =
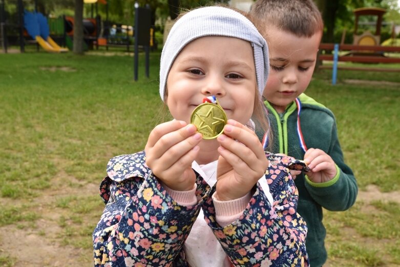
[[[217,192],[212,196],[215,208],[215,219],[221,227],[225,227],[238,219],[251,199],[251,194],[247,193],[247,195],[241,198],[220,201],[216,198],[216,194]]]

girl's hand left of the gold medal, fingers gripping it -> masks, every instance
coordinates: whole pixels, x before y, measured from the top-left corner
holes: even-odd
[[[173,120],[157,125],[146,143],[146,165],[167,187],[176,191],[193,189],[196,175],[192,162],[199,153],[202,136],[196,126]]]

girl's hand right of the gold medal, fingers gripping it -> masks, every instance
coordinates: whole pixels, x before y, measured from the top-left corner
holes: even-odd
[[[240,122],[228,120],[220,147],[217,167],[217,198],[232,200],[246,195],[265,174],[268,160],[257,135]]]

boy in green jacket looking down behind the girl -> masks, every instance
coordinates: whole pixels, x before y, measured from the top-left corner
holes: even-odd
[[[296,173],[298,212],[308,226],[310,266],[322,266],[327,259],[322,208],[349,209],[357,196],[357,183],[344,163],[334,115],[303,93],[317,60],[321,13],[311,0],[258,0],[250,14],[259,20],[270,51],[263,96],[273,130],[272,152],[304,159],[311,169]]]

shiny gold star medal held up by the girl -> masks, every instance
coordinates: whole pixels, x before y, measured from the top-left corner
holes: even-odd
[[[197,106],[191,115],[191,124],[196,125],[197,131],[203,135],[203,139],[214,139],[222,134],[227,117],[223,108],[216,104],[204,102]]]

